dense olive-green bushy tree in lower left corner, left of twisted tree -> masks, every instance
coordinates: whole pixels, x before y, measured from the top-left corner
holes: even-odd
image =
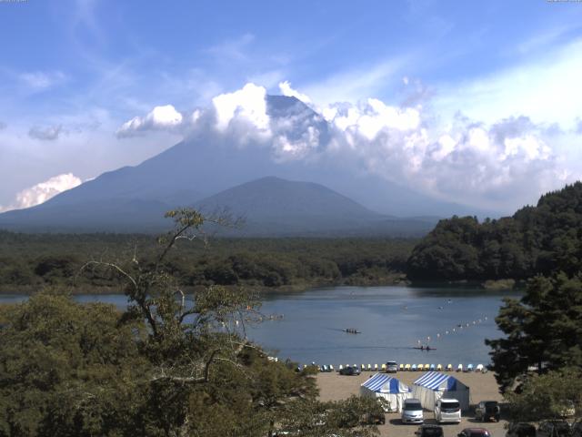
[[[143,323],[111,305],[38,294],[3,308],[0,435],[129,435],[149,365]]]

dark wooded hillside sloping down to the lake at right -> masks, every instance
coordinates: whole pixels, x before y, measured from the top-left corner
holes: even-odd
[[[527,279],[573,275],[582,260],[582,183],[542,196],[513,217],[441,220],[413,250],[410,279]]]

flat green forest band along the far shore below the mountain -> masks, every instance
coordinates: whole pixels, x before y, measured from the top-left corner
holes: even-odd
[[[166,267],[184,286],[246,285],[303,289],[380,285],[404,277],[415,239],[211,239],[179,241]],[[121,266],[154,262],[156,239],[127,234],[22,234],[0,231],[0,291],[72,286],[75,292],[118,291],[118,278],[87,261]]]

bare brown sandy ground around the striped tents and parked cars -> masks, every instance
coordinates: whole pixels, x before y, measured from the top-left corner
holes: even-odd
[[[412,385],[412,382],[419,378],[424,372],[420,371],[402,371],[394,373],[400,381]],[[363,372],[359,376],[342,376],[336,372],[319,373],[317,374],[317,385],[319,386],[319,398],[322,401],[337,401],[345,399],[352,394],[359,394],[360,384],[366,381],[375,372]],[[479,401],[502,401],[502,397],[497,389],[497,382],[492,372],[487,373],[452,373],[458,381],[463,382],[470,388],[470,402],[471,405],[477,404]],[[460,424],[444,424],[445,437],[456,437],[457,433],[468,427],[483,427],[486,428],[492,437],[505,437],[506,430],[504,428],[507,423],[504,420],[500,422],[481,423],[474,419],[474,413],[463,413],[463,419]],[[433,412],[425,412],[425,423],[436,423]],[[400,422],[400,414],[386,413],[386,425],[380,425],[380,435],[391,437],[414,437],[417,425],[402,424]]]

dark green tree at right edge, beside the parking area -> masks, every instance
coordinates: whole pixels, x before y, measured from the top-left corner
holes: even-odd
[[[496,321],[506,337],[486,343],[502,391],[513,388],[532,366],[540,373],[582,366],[579,276],[531,279],[521,300],[505,300]]]

